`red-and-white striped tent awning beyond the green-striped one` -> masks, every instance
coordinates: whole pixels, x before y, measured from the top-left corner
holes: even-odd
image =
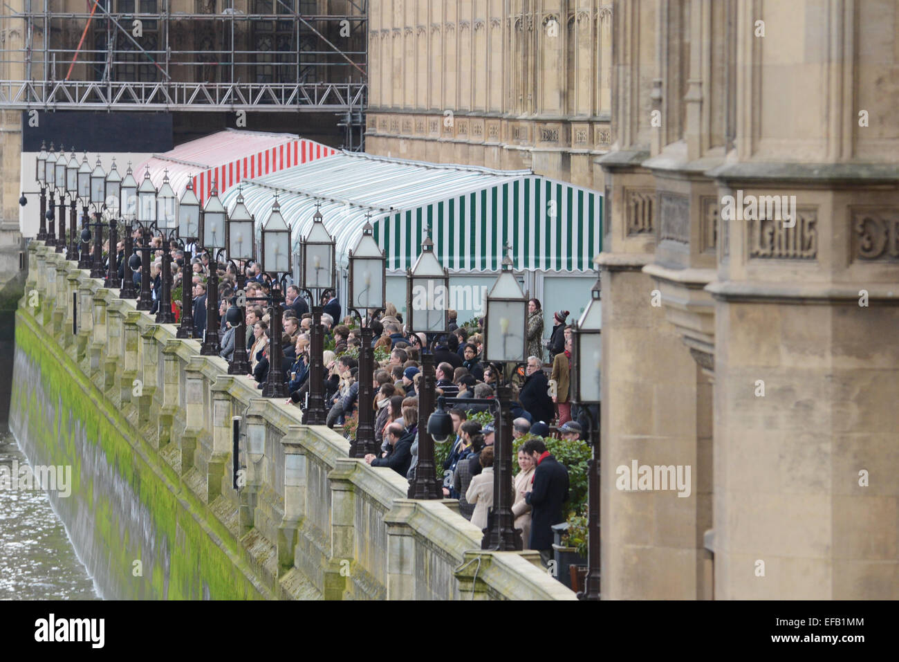
[[[186,142],[165,154],[154,154],[133,172],[139,184],[148,166],[150,180],[159,188],[167,171],[169,183],[179,198],[190,179],[202,203],[212,191],[213,182],[221,195],[245,179],[273,174],[336,152],[334,148],[292,133],[226,129]]]

